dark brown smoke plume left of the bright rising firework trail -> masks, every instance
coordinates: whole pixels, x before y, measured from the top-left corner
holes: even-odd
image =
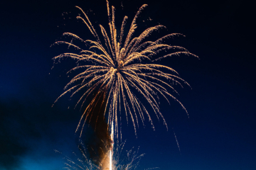
[[[105,118],[105,91],[96,94],[96,100],[88,109],[87,123],[94,130],[94,137],[88,143],[88,151],[92,161],[101,167],[101,169],[109,169],[110,150],[112,149],[112,140],[110,137],[109,125]]]

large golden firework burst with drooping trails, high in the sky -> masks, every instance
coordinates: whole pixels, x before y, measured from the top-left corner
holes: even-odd
[[[82,120],[90,120],[90,114],[92,114],[93,109],[92,105],[95,105],[94,103],[97,103],[97,98],[100,98],[102,95],[104,95],[106,103],[104,115],[110,127],[111,123],[114,123],[114,131],[117,135],[119,130],[118,123],[121,121],[121,116],[118,114],[121,113],[121,108],[124,109],[127,123],[128,118],[131,118],[135,134],[139,126],[139,118],[144,123],[145,117],[147,117],[154,128],[151,113],[146,105],[149,105],[157,118],[164,120],[159,109],[159,96],[163,96],[168,102],[169,98],[173,98],[185,109],[182,103],[169,91],[177,93],[174,89],[174,84],[182,86],[182,84],[187,84],[187,82],[181,79],[178,73],[171,67],[155,64],[154,61],[174,55],[197,56],[188,52],[184,47],[163,43],[168,38],[181,35],[179,33],[171,33],[154,41],[146,40],[151,33],[164,28],[161,25],[147,28],[138,37],[134,38],[133,35],[137,29],[137,18],[146,6],[144,4],[139,8],[127,34],[124,33],[124,28],[127,26],[128,17],[124,16],[118,35],[115,26],[115,8],[112,6],[112,10],[110,10],[108,1],[107,16],[110,33],[107,33],[106,29],[100,25],[100,34],[98,34],[87,14],[80,7],[76,6],[84,15],[83,18],[82,16],[77,18],[85,23],[90,33],[95,37],[95,40],[83,40],[73,33],[64,33],[63,35],[70,36],[72,41],[57,41],[54,43],[66,44],[79,50],[78,53],[63,53],[53,58],[55,62],[59,62],[63,58],[72,58],[78,65],[70,69],[68,73],[75,70],[78,72],[79,70],[78,74],[65,86],[65,92],[58,98],[68,92],[71,92],[72,97],[74,94],[82,91],[82,96],[78,100],[78,103],[82,103],[81,106],[87,98],[92,98],[82,114],[78,128]],[[73,40],[80,40],[89,45],[89,49],[86,50],[84,47],[74,45]],[[165,52],[164,55],[162,55],[163,52]],[[58,101],[58,98],[56,101]],[[145,105],[145,103],[147,104]],[[165,120],[164,125],[166,125]],[[120,134],[122,135],[121,132]]]

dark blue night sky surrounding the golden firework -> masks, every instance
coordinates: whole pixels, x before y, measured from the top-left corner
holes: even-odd
[[[132,122],[127,126],[123,118],[124,153],[132,147],[145,153],[138,169],[256,169],[256,13],[252,1],[110,0],[117,8],[117,26],[122,23],[118,18],[125,15],[129,26],[142,4],[149,6],[137,20],[138,34],[160,23],[168,30],[159,36],[186,35],[175,38],[174,45],[186,47],[200,59],[184,55],[160,62],[176,69],[191,85],[192,89],[178,88],[180,95],[176,95],[189,118],[177,102],[169,106],[161,99],[168,130],[152,114],[156,130],[145,121],[136,137]],[[51,107],[70,80],[65,72],[73,62],[53,67],[51,59],[67,52],[67,47],[50,45],[65,32],[92,38],[75,18],[81,13],[75,6],[87,12],[96,30],[99,24],[107,28],[105,0],[0,3],[1,170],[63,169],[63,157],[80,153],[75,129],[81,113],[73,109],[75,101],[67,96]],[[85,130],[85,139],[90,136],[90,130]]]

